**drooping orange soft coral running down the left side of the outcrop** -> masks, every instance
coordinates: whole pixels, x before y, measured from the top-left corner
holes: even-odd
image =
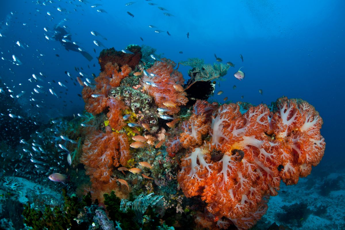
[[[111,190],[118,190],[116,179],[112,177],[114,167],[120,164],[125,166],[131,158],[128,136],[126,133],[113,132],[121,130],[126,123],[122,119],[122,111],[128,109],[119,98],[108,97],[112,87],[120,86],[122,79],[131,72],[128,65],[121,67],[114,63],[107,63],[104,71],[95,78],[94,87],[85,87],[82,96],[85,101],[85,110],[94,115],[108,108],[109,126],[106,133],[90,128],[83,144],[83,154],[80,162],[85,165],[86,174],[92,182],[91,190],[93,199],[103,201],[103,194]],[[121,196],[121,192],[117,192]],[[122,196],[125,198],[125,195]]]

